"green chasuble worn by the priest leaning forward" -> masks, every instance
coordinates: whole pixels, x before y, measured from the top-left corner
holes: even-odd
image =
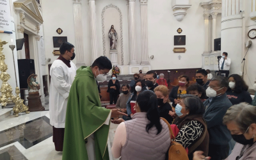
[[[80,67],[68,96],[63,160],[88,159],[86,142],[92,134],[95,141],[95,158],[109,159],[109,125],[104,122],[110,111],[101,107],[98,86],[91,68]]]

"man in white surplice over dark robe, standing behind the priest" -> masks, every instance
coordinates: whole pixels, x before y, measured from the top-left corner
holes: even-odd
[[[68,95],[76,76],[76,65],[70,61],[76,56],[74,51],[74,45],[68,42],[61,44],[61,55],[50,68],[49,112],[56,151],[63,150]]]

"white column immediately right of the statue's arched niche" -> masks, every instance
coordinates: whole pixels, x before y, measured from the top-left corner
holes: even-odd
[[[130,65],[137,65],[136,30],[135,30],[135,1],[129,0],[129,38],[130,38]]]

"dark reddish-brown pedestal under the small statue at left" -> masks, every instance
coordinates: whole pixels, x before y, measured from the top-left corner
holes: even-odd
[[[38,92],[28,93],[28,111],[44,111],[45,108],[42,106],[41,95]]]

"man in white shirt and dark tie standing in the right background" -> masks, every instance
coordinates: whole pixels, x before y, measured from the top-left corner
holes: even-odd
[[[220,74],[225,74],[228,77],[231,60],[228,58],[228,53],[223,52],[222,58],[220,59]]]

